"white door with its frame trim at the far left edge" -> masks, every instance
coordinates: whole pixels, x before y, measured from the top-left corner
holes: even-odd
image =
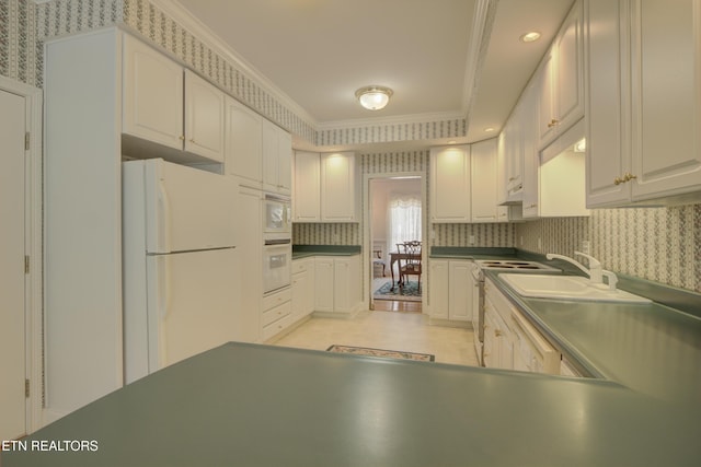
[[[41,420],[39,122],[39,92],[0,78],[0,440]]]

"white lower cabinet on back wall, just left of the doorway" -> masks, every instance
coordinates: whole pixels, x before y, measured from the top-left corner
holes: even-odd
[[[314,311],[353,313],[360,302],[360,256],[314,259]]]

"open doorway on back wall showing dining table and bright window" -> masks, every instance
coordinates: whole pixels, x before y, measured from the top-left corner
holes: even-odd
[[[422,249],[412,262],[411,276],[401,276],[407,258],[404,243],[423,244],[424,190],[421,175],[376,176],[368,179],[367,245],[371,253],[367,275],[370,310],[421,312],[425,275],[422,273]],[[400,281],[400,279],[403,279]]]

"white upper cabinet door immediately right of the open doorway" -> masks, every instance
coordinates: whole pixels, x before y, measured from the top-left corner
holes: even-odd
[[[470,147],[430,150],[430,220],[470,222]]]

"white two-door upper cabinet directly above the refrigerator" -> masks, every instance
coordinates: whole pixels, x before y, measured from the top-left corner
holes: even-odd
[[[129,155],[223,162],[225,94],[138,39],[124,35],[122,131]],[[168,150],[143,148],[143,142]],[[200,160],[202,161],[202,160]]]

